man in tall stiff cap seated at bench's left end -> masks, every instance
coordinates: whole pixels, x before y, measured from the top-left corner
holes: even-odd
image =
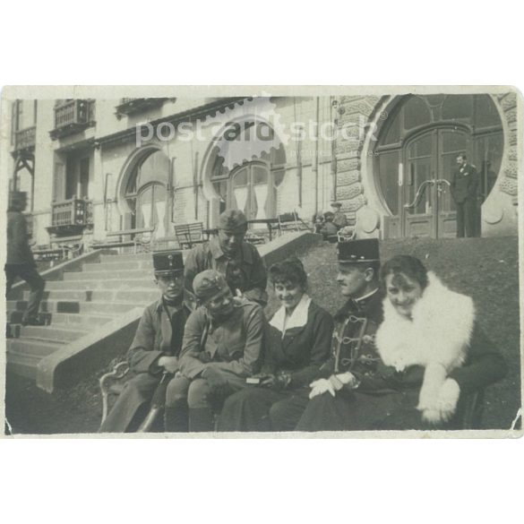
[[[184,263],[182,253],[153,253],[154,275],[161,296],[148,305],[127,352],[135,375],[125,383],[115,406],[100,427],[100,432],[136,431],[150,408],[150,401],[161,381],[167,382],[178,371],[185,321],[189,311],[184,305]],[[166,418],[169,416],[166,411]],[[165,421],[169,424],[169,421]]]

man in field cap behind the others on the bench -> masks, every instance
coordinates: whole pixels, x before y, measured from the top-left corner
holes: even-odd
[[[185,261],[185,290],[194,297],[193,279],[204,270],[217,270],[225,276],[236,295],[266,305],[267,274],[262,258],[254,245],[245,242],[247,219],[239,210],[226,210],[219,217],[219,235],[193,247]],[[194,304],[194,299],[193,299]]]

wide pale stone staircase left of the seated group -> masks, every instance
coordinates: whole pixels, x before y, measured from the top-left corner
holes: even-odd
[[[64,272],[46,282],[40,305],[45,326],[21,326],[29,291],[13,289],[6,302],[8,373],[35,379],[37,365],[73,341],[90,335],[136,307],[159,297],[153,282],[150,253],[102,254],[82,271]]]

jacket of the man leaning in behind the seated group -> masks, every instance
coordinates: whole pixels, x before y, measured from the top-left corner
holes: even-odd
[[[216,270],[225,275],[233,293],[239,288],[249,300],[267,302],[266,268],[254,245],[243,242],[235,259],[229,259],[224,254],[218,237],[193,247],[185,260],[184,271],[185,290],[193,304],[193,279],[205,270]]]

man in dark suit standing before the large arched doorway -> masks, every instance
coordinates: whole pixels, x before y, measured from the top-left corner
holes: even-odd
[[[475,236],[477,221],[478,174],[466,155],[457,157],[458,168],[451,177],[451,196],[457,206],[457,238]]]

